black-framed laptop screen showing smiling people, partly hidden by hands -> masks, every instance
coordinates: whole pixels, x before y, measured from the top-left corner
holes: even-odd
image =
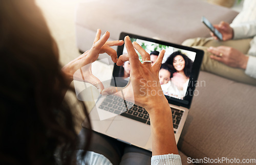
[[[159,70],[162,91],[169,103],[189,108],[195,94],[203,51],[128,33],[121,33],[120,39],[124,39],[126,35],[129,35],[132,42],[136,41],[150,54],[152,65],[156,61],[159,52],[165,50]],[[127,54],[125,45],[118,46],[117,54],[118,57]],[[139,53],[138,56],[142,62]],[[125,86],[130,77],[129,61],[124,62],[122,66],[115,65],[113,77],[115,82],[112,82],[111,85]]]

